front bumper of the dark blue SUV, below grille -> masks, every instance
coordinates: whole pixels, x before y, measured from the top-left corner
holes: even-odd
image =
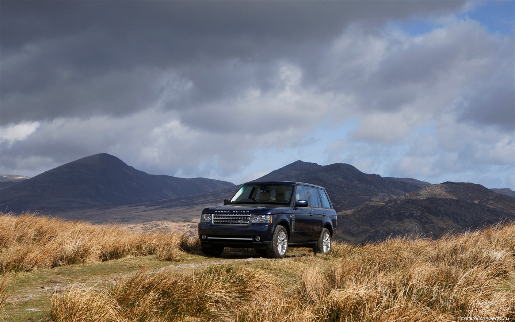
[[[273,226],[251,224],[245,227],[198,223],[198,236],[202,246],[220,245],[224,247],[264,249],[272,240]],[[205,238],[204,238],[205,236]],[[256,237],[258,237],[256,239]],[[259,239],[259,240],[258,240]]]

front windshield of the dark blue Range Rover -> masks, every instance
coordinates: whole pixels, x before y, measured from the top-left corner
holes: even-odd
[[[289,205],[293,184],[245,184],[231,199],[231,204]]]

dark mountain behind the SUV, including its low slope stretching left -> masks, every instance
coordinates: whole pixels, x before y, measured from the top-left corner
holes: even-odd
[[[351,211],[364,202],[387,201],[420,188],[406,182],[385,180],[379,175],[362,173],[350,164],[318,165],[303,161],[288,164],[254,181],[257,180],[301,181],[321,185],[327,189],[337,211]],[[190,222],[198,220],[204,207],[220,205],[224,199],[232,197],[237,188],[235,186],[195,196],[124,206],[80,209],[62,215],[73,219],[87,218],[93,222]]]

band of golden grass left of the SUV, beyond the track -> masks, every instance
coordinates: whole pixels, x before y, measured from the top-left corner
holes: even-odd
[[[133,233],[115,225],[0,212],[0,274],[129,255],[180,261],[183,251],[199,248],[199,241],[185,234]]]

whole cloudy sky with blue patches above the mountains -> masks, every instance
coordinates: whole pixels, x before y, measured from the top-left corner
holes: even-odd
[[[515,190],[515,3],[0,0],[0,174],[101,152]]]

